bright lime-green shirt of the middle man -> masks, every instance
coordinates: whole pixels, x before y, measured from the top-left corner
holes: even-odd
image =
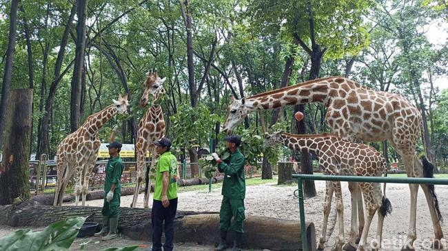
[[[154,200],[162,200],[163,172],[168,173],[168,199],[177,198],[177,159],[171,152],[163,152],[157,163],[156,184],[154,185]]]

